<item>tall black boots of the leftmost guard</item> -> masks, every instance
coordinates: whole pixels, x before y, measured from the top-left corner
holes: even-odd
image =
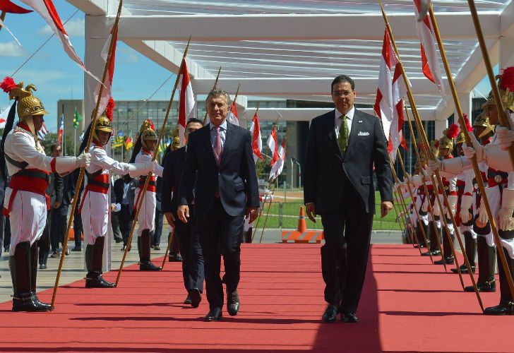
[[[30,242],[16,245],[13,256],[9,257],[9,268],[13,280],[13,311],[49,311],[50,306],[40,303],[32,293],[32,264]],[[37,266],[37,259],[36,264]]]

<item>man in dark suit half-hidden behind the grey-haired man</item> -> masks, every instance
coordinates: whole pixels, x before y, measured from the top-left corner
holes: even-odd
[[[189,119],[186,124],[186,140],[189,133],[202,127],[201,120]],[[161,210],[169,225],[175,229],[174,239],[179,239],[179,249],[182,254],[182,276],[184,277],[184,287],[186,287],[188,293],[184,304],[191,304],[193,308],[196,308],[202,299],[204,278],[203,255],[198,239],[196,217],[193,209],[190,210],[187,223],[182,222],[177,217],[180,180],[185,161],[186,146],[166,154],[164,170],[162,171]]]

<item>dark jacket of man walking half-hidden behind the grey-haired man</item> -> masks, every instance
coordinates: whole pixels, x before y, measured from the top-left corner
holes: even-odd
[[[179,189],[182,169],[186,161],[186,147],[166,154],[161,184],[161,212],[177,213],[179,208]],[[191,191],[192,192],[192,191]],[[192,196],[188,196],[192,200]]]

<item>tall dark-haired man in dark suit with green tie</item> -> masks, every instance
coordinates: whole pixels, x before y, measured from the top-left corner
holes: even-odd
[[[381,121],[355,109],[352,78],[337,76],[331,94],[335,110],[309,128],[304,201],[310,220],[321,215],[325,236],[321,270],[328,306],[322,321],[334,322],[340,312],[342,321],[357,323],[375,212],[373,169],[382,217],[393,208],[393,177]]]

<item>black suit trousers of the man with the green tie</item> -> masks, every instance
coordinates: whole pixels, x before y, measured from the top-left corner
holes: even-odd
[[[371,241],[373,214],[351,184],[343,186],[337,210],[321,214],[325,244],[321,247],[321,270],[325,301],[340,306],[343,313],[355,313],[359,305]]]

